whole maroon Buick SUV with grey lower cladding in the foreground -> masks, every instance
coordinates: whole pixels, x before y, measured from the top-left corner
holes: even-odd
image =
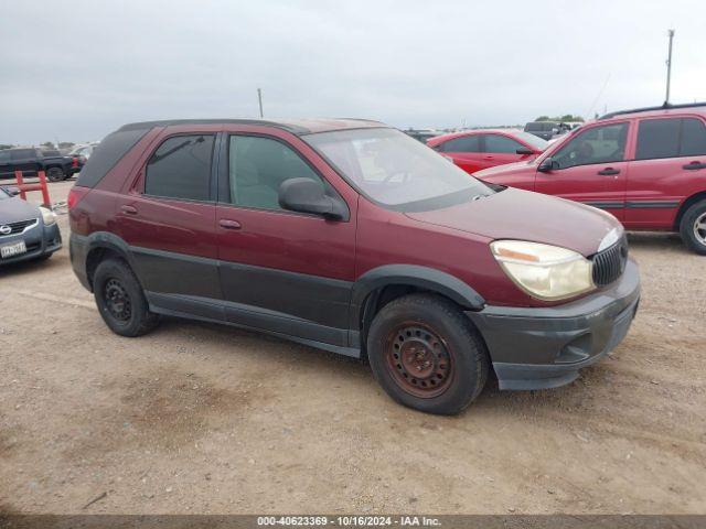
[[[108,136],[72,190],[71,258],[124,336],[158,315],[353,357],[456,413],[570,382],[623,338],[640,280],[620,223],[490,187],[363,120],[161,121]]]

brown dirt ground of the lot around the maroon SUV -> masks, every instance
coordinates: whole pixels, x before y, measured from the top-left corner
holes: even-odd
[[[272,337],[178,320],[118,337],[67,247],[0,270],[0,509],[706,512],[706,258],[630,241],[643,299],[618,349],[560,389],[491,382],[454,418]]]

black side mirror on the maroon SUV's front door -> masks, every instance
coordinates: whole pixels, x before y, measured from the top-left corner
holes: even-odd
[[[292,212],[312,213],[332,220],[347,220],[349,208],[338,197],[325,194],[323,185],[311,179],[289,179],[279,186],[279,205]]]

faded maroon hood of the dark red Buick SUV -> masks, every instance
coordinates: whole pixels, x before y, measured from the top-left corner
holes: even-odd
[[[560,246],[585,257],[596,253],[613,228],[622,229],[618,219],[595,207],[512,187],[478,201],[407,216],[491,239]]]

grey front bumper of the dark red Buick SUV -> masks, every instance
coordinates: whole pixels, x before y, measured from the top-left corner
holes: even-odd
[[[640,302],[638,266],[629,260],[610,288],[565,305],[486,306],[467,312],[483,335],[500,389],[564,386],[616,348]]]

